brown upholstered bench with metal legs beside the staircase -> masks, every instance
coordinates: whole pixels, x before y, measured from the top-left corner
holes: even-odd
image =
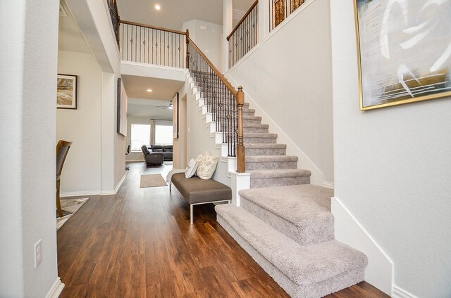
[[[169,190],[171,191],[171,184],[180,191],[185,200],[190,204],[190,223],[193,224],[193,206],[216,203],[216,202],[231,202],[232,190],[230,187],[213,179],[200,179],[197,176],[186,179],[185,173],[176,173],[171,177],[169,183]]]

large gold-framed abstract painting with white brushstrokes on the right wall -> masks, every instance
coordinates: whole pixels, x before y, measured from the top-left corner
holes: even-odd
[[[354,0],[360,109],[451,96],[451,0]]]

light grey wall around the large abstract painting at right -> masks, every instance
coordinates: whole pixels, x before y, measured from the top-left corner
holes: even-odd
[[[360,111],[353,9],[331,1],[335,197],[393,260],[397,288],[451,297],[451,98]]]

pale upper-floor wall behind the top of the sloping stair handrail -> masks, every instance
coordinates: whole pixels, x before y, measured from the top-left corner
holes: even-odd
[[[204,29],[201,29],[204,28]],[[190,30],[190,39],[204,52],[211,63],[222,69],[222,37],[223,26],[203,20],[184,22],[182,31]]]

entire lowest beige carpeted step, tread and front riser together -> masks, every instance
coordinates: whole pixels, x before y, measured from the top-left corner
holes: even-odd
[[[364,254],[338,241],[299,245],[245,209],[215,207],[218,223],[291,297],[323,297],[364,279]]]

